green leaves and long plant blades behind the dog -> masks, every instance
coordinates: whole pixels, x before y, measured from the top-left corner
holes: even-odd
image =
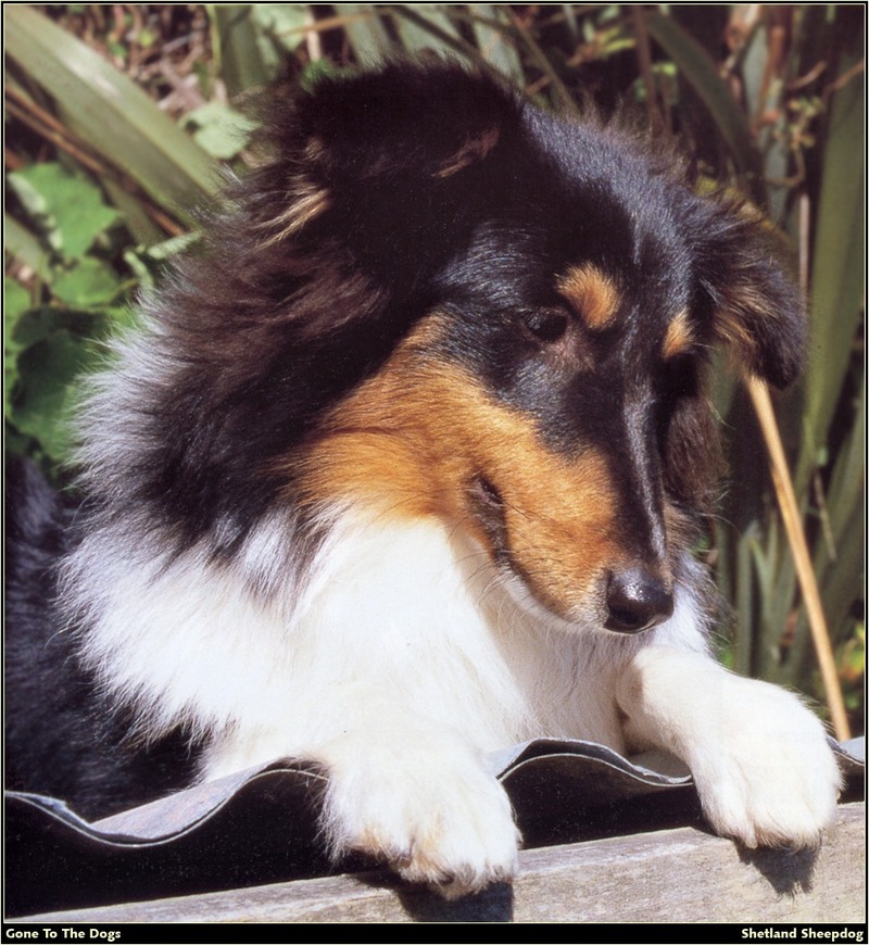
[[[60,481],[71,386],[135,291],[196,240],[191,207],[243,169],[267,89],[431,50],[544,108],[634,105],[768,213],[813,311],[777,402],[839,675],[862,730],[865,79],[861,4],[7,5],[8,451]],[[279,93],[279,92],[276,92]],[[793,559],[738,380],[716,373],[731,477],[706,550],[738,670],[819,702]]]

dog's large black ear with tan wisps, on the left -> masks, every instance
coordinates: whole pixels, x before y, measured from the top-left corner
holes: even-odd
[[[277,161],[257,192],[267,241],[343,247],[401,294],[479,218],[509,174],[521,103],[455,63],[389,64],[333,75],[290,100],[272,124]],[[501,171],[496,171],[500,167]],[[487,187],[476,181],[486,174]]]

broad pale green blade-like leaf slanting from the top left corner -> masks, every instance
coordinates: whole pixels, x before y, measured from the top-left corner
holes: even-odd
[[[65,29],[26,5],[4,9],[7,59],[55,101],[63,119],[150,197],[192,223],[215,164],[144,92]]]

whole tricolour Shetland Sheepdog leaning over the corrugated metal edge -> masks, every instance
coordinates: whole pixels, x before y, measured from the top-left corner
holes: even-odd
[[[520,837],[486,754],[656,747],[753,847],[840,776],[709,653],[728,349],[779,387],[774,238],[672,149],[457,64],[325,77],[86,382],[79,500],[12,479],[15,783],[90,816],[281,756],[323,834],[454,897]]]

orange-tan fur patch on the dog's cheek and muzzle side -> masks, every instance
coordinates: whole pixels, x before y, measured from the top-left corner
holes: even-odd
[[[588,614],[619,557],[603,456],[546,449],[529,416],[425,354],[431,330],[418,329],[333,411],[301,458],[304,500],[319,507],[347,497],[383,516],[437,516],[488,545],[468,499],[474,477],[483,476],[504,501],[511,558],[536,596],[568,619]],[[298,469],[299,457],[292,462]]]

